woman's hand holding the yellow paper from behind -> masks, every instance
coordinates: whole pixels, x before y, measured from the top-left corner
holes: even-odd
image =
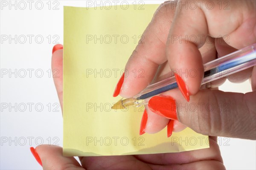
[[[56,45],[52,54],[52,70],[58,69],[60,77],[54,78],[55,87],[63,107],[63,62],[62,45]],[[181,153],[163,153],[127,156],[79,157],[81,165],[74,157],[64,157],[62,148],[41,145],[32,148],[33,155],[45,170],[90,170],[90,169],[225,169],[216,137],[210,137],[207,149]]]

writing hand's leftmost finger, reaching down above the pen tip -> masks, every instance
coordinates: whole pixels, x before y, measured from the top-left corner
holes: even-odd
[[[121,96],[128,98],[142,91],[152,81],[158,65],[166,61],[166,40],[175,12],[170,4],[172,1],[160,5],[143,33],[143,43],[139,43],[131,54],[125,66],[128,75],[125,75]]]

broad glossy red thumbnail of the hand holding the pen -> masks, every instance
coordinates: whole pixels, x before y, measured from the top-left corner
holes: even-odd
[[[177,120],[175,99],[169,96],[154,96],[148,101],[148,108],[168,119]]]

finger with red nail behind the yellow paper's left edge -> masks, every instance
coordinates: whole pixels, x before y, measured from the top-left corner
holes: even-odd
[[[57,44],[52,49],[52,76],[58,98],[63,106],[63,45]]]

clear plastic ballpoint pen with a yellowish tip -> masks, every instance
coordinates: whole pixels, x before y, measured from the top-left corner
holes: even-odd
[[[227,54],[223,57],[204,64],[204,78],[201,85],[243,71],[256,65],[256,44]],[[121,99],[112,106],[112,109],[127,108],[129,105],[146,105],[152,96],[177,88],[175,77],[169,77],[160,82],[148,85],[134,97]]]

